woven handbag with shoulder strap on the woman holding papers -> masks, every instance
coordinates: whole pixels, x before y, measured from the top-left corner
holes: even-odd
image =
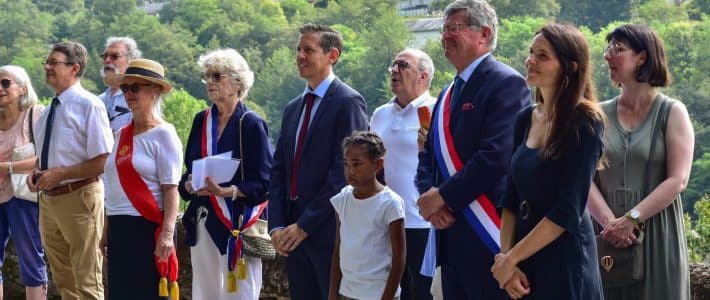
[[[244,162],[244,147],[242,142],[242,137],[244,136],[242,131],[242,121],[244,117],[253,113],[252,111],[247,111],[242,114],[239,118],[239,155],[242,162]],[[240,168],[242,171],[242,180],[244,180],[244,168]],[[268,211],[267,211],[268,213]],[[274,259],[276,258],[276,250],[274,245],[271,244],[271,236],[269,235],[269,223],[263,219],[257,219],[256,223],[249,226],[242,234],[244,254],[252,257],[258,257],[261,259]]]

